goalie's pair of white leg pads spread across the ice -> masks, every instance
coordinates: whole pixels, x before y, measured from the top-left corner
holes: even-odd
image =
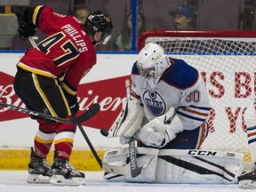
[[[128,148],[104,155],[104,179],[179,184],[236,184],[244,154],[196,149],[137,148],[139,176],[132,178]],[[126,164],[127,163],[127,164]],[[108,166],[104,167],[104,164]]]

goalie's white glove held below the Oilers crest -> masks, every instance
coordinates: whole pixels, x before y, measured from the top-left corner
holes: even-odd
[[[175,110],[171,107],[165,115],[158,116],[146,124],[141,129],[139,139],[147,146],[163,148],[182,131],[180,117],[175,116]]]

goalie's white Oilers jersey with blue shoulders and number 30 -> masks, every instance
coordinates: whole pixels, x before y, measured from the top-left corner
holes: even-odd
[[[132,96],[144,106],[148,120],[164,115],[169,108],[176,110],[184,130],[193,130],[203,124],[210,114],[210,100],[200,73],[184,60],[170,59],[155,90],[147,88],[147,79],[140,76],[136,62],[132,68]]]

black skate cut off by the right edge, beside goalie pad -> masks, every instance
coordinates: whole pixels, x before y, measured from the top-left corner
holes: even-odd
[[[239,188],[256,188],[256,168],[252,172],[244,172],[238,178]]]

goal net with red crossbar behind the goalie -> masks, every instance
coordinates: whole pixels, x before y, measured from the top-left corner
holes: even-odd
[[[250,163],[244,110],[256,92],[256,32],[152,30],[140,36],[139,50],[149,41],[187,61],[204,78],[211,113],[210,132],[201,148],[242,152],[244,163]]]

